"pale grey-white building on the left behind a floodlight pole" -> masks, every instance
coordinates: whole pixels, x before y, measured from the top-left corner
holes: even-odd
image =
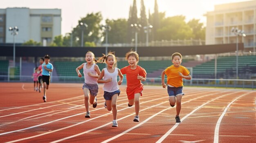
[[[42,43],[46,40],[49,45],[61,35],[61,9],[0,9],[0,43],[13,43],[9,27],[14,26],[19,29],[16,43],[32,39]]]

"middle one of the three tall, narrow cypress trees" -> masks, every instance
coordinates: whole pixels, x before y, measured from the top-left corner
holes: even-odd
[[[139,31],[139,42],[145,43],[146,42],[146,37],[145,37],[145,33],[144,33],[144,26],[148,25],[148,20],[147,20],[147,16],[146,16],[146,8],[144,5],[144,0],[141,0],[141,8],[140,8],[140,20],[139,20],[139,24],[141,24],[141,28]]]

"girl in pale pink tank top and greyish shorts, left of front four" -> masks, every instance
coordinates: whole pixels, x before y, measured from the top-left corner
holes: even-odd
[[[78,77],[82,77],[79,70],[83,68],[84,75],[84,84],[83,84],[83,93],[84,93],[84,104],[86,109],[85,118],[90,118],[89,111],[89,95],[90,95],[90,103],[93,108],[97,107],[97,94],[99,91],[99,85],[97,83],[98,77],[101,74],[99,70],[99,66],[95,64],[97,60],[95,59],[94,53],[88,51],[85,54],[86,63],[81,64],[76,68],[76,73]]]

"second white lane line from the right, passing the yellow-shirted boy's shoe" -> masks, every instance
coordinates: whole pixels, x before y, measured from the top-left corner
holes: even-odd
[[[235,92],[235,93],[236,93],[236,92]],[[186,119],[186,117],[189,117],[191,114],[193,114],[196,110],[202,108],[202,106],[204,106],[204,105],[210,103],[211,101],[214,101],[214,100],[216,100],[216,99],[219,99],[219,98],[221,98],[221,97],[224,97],[224,96],[227,96],[227,95],[231,95],[231,94],[234,94],[234,93],[229,93],[229,94],[222,95],[222,96],[220,96],[220,97],[217,97],[217,98],[215,98],[215,99],[212,99],[212,100],[210,100],[210,101],[208,101],[208,102],[202,104],[201,106],[198,106],[198,108],[195,108],[195,110],[193,110],[192,112],[190,112],[189,114],[187,114],[185,117],[183,117],[183,118],[181,119],[181,122],[182,122],[184,119]],[[166,132],[156,143],[162,143],[162,141],[164,141],[164,139],[165,139],[169,134],[171,134],[171,132],[173,132],[173,130],[175,130],[175,128],[177,128],[178,125],[179,125],[179,123],[176,123],[176,124],[175,124],[170,130],[168,130],[168,132]]]

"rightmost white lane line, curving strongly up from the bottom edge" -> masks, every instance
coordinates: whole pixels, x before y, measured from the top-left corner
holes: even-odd
[[[250,92],[249,92],[250,93]],[[225,110],[222,112],[220,118],[218,119],[217,123],[216,123],[216,127],[215,127],[215,131],[214,131],[214,141],[213,143],[218,143],[219,142],[219,130],[220,130],[220,122],[222,120],[222,118],[225,116],[227,110],[229,109],[229,106],[234,103],[237,99],[239,99],[240,97],[243,97],[245,95],[248,95],[249,93],[245,93],[239,97],[236,97],[236,99],[234,99],[233,101],[231,101],[229,103],[229,105],[227,105],[227,107],[225,108]]]

